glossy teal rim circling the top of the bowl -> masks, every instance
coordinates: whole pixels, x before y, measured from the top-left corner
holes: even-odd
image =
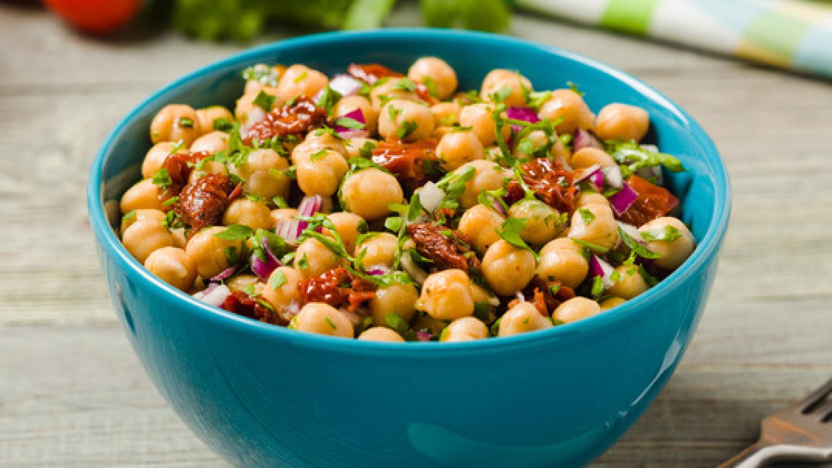
[[[532,333],[521,333],[512,337],[498,337],[498,339],[488,338],[482,340],[474,340],[470,342],[371,342],[358,339],[344,339],[341,337],[330,337],[327,335],[319,335],[317,333],[297,333],[288,328],[279,327],[270,323],[261,323],[259,321],[245,318],[235,313],[230,313],[221,308],[210,306],[202,303],[191,295],[173,288],[171,285],[165,283],[161,278],[150,273],[143,267],[138,260],[134,259],[131,254],[127,252],[121,241],[116,237],[114,230],[107,221],[102,200],[102,172],[106,153],[110,150],[114,142],[119,138],[122,131],[126,129],[128,124],[148,105],[156,101],[161,96],[164,96],[169,91],[176,89],[179,86],[185,85],[188,81],[199,78],[202,75],[212,71],[221,71],[226,67],[233,67],[239,65],[240,62],[250,61],[264,52],[279,52],[294,47],[306,47],[325,45],[332,42],[339,42],[351,38],[378,38],[389,40],[408,40],[418,41],[419,38],[428,37],[443,37],[448,40],[473,40],[478,42],[502,42],[513,47],[519,47],[526,50],[535,50],[537,52],[545,52],[554,54],[573,62],[578,62],[583,66],[594,68],[598,71],[616,78],[630,86],[642,96],[646,96],[657,104],[672,111],[686,124],[686,130],[691,131],[694,139],[701,145],[701,151],[711,161],[713,167],[714,182],[715,182],[715,203],[713,207],[713,214],[711,224],[706,230],[705,236],[700,240],[696,246],[691,257],[686,259],[685,263],[676,271],[671,273],[659,285],[648,289],[645,293],[633,298],[626,303],[623,303],[609,312],[599,313],[590,318],[582,319],[577,323],[567,323],[558,327],[547,328],[545,330],[537,330]],[[292,342],[295,345],[305,347],[322,348],[334,352],[354,352],[359,354],[369,354],[373,352],[384,352],[413,354],[417,350],[430,350],[432,353],[458,353],[458,352],[473,352],[478,350],[498,350],[508,349],[513,347],[527,347],[537,345],[539,342],[560,340],[569,337],[583,336],[586,334],[597,333],[619,323],[631,316],[641,313],[646,313],[652,303],[656,303],[659,298],[665,297],[672,293],[676,288],[683,283],[687,278],[690,278],[696,271],[700,270],[704,264],[708,263],[710,259],[716,255],[721,245],[728,220],[730,218],[730,180],[725,162],[721,159],[719,151],[716,149],[711,138],[706,134],[702,127],[693,119],[686,111],[677,106],[676,103],[668,99],[661,92],[656,91],[653,87],[647,85],[636,77],[631,76],[623,71],[617,70],[614,67],[598,62],[594,59],[584,57],[575,52],[562,50],[558,47],[543,45],[537,42],[529,42],[517,37],[508,37],[498,34],[491,34],[487,32],[470,32],[453,29],[438,29],[438,28],[385,28],[372,31],[354,31],[354,32],[323,32],[318,34],[311,34],[301,37],[291,37],[289,39],[280,40],[277,42],[270,42],[257,47],[250,47],[242,52],[235,53],[230,57],[225,57],[220,61],[213,62],[206,67],[202,67],[196,71],[181,76],[172,81],[160,90],[154,92],[151,96],[141,101],[135,106],[121,121],[113,128],[107,135],[106,140],[97,151],[97,154],[92,161],[90,168],[90,176],[87,184],[87,209],[91,220],[93,233],[96,235],[99,244],[101,244],[100,252],[105,253],[108,257],[116,259],[119,267],[126,270],[128,275],[132,278],[139,277],[141,281],[150,283],[151,287],[161,288],[165,293],[171,295],[171,298],[181,300],[181,308],[177,310],[178,313],[193,313],[199,314],[199,318],[212,321],[218,325],[237,328],[244,333],[264,334],[266,337],[277,339],[284,339],[287,342]],[[102,260],[103,261],[103,260]],[[176,300],[176,299],[173,299]]]

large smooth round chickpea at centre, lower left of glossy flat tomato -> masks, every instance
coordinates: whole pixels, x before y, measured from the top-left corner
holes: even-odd
[[[383,218],[390,212],[388,204],[404,200],[399,180],[373,167],[359,170],[345,178],[341,196],[344,209],[369,220]]]

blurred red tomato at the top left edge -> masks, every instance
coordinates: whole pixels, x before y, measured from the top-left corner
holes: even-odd
[[[74,27],[93,34],[106,34],[130,22],[141,0],[43,0]]]

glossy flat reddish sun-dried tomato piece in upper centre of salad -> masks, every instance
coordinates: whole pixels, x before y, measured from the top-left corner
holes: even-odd
[[[434,151],[436,140],[419,140],[415,143],[382,141],[373,150],[371,159],[389,170],[405,190],[414,190],[428,181],[425,165],[437,162]]]

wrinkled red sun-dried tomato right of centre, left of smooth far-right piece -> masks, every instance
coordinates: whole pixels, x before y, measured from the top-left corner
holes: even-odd
[[[530,160],[523,164],[521,169],[523,182],[537,194],[543,203],[561,213],[572,215],[575,211],[575,197],[577,196],[572,171],[563,169],[559,161],[548,158]],[[513,197],[520,195],[518,200],[522,198],[522,188],[517,180],[509,182],[508,193]]]

